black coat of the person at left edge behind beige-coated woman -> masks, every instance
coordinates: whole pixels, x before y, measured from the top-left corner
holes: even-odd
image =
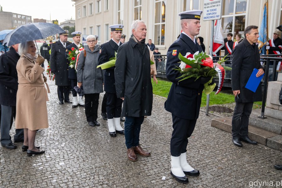
[[[20,55],[11,46],[6,54],[0,56],[0,104],[16,106],[18,91],[18,72],[16,65]]]

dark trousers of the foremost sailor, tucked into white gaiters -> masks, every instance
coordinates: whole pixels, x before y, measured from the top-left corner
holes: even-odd
[[[187,150],[188,138],[192,135],[197,119],[183,119],[172,114],[170,154],[178,157]]]

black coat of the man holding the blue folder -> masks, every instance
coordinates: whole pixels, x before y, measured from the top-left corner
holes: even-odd
[[[255,93],[245,88],[253,69],[263,69],[260,64],[258,46],[251,45],[247,39],[237,44],[232,52],[231,68],[232,90],[240,90],[240,98],[235,97],[235,101],[238,103],[262,101],[261,84]]]

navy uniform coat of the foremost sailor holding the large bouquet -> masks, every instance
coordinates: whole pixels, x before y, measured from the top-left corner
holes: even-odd
[[[199,117],[204,85],[201,84],[201,79],[195,81],[195,78],[178,82],[180,79],[176,78],[181,74],[174,69],[175,66],[180,65],[178,63],[180,62],[179,53],[185,56],[187,52],[194,54],[197,51],[202,52],[201,46],[197,42],[195,44],[184,33],[180,34],[180,37],[167,51],[166,77],[172,82],[172,85],[165,101],[165,109],[183,119],[197,119]]]

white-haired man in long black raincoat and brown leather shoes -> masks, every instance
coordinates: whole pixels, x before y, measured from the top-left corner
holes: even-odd
[[[150,75],[150,53],[146,47],[147,33],[143,21],[135,20],[132,35],[127,43],[118,48],[115,85],[117,97],[123,99],[122,116],[125,116],[124,133],[127,157],[136,161],[135,153],[151,155],[139,145],[139,134],[144,116],[151,115],[153,88]]]

